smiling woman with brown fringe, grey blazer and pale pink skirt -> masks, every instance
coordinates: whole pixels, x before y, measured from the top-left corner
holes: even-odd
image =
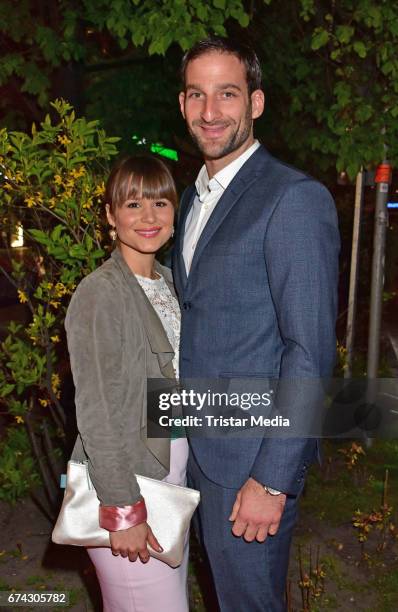
[[[111,542],[88,553],[105,611],[186,612],[188,546],[177,569],[150,558],[148,545],[162,543],[134,476],[185,484],[186,439],[146,437],[147,378],[178,376],[180,314],[170,271],[155,260],[173,234],[177,194],[160,160],[131,157],[112,171],[105,201],[116,248],[79,284],[65,321],[80,451]]]

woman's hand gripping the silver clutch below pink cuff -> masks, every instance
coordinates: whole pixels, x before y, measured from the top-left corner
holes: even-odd
[[[148,523],[140,523],[120,531],[111,531],[109,538],[112,553],[128,557],[130,561],[136,561],[137,557],[139,557],[142,563],[147,563],[149,561],[148,544],[157,552],[163,551]]]

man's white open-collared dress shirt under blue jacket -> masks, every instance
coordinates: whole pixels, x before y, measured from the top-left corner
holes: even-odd
[[[195,182],[195,200],[185,222],[182,255],[187,275],[191,269],[191,263],[198,240],[217,202],[234,176],[259,146],[260,143],[258,140],[255,140],[251,147],[246,149],[242,155],[234,159],[230,164],[225,166],[225,168],[217,172],[210,180],[206,166],[203,165],[200,169],[198,178]]]

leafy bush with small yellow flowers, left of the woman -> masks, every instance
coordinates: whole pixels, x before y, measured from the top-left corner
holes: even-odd
[[[0,402],[12,419],[3,442],[8,462],[3,460],[1,478],[10,500],[26,492],[30,468],[30,482],[37,482],[27,459],[21,481],[16,479],[14,455],[7,450],[12,443],[17,452],[20,443],[26,457],[27,433],[48,496],[56,499],[53,440],[62,441],[66,422],[63,321],[77,283],[105,256],[101,196],[107,163],[117,153],[118,139],[107,137],[97,121],[76,118],[64,101],[52,106],[57,121],[47,115],[40,128],[33,125],[31,135],[0,131],[0,214],[9,234],[22,226],[25,236],[23,249],[6,249],[2,272],[29,312],[27,325],[11,322],[0,347]]]

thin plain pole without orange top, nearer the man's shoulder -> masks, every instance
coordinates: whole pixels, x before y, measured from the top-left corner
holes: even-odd
[[[355,208],[354,208],[354,225],[352,228],[352,247],[351,247],[351,270],[350,270],[350,289],[348,293],[348,313],[347,313],[347,332],[346,332],[346,348],[347,361],[344,368],[344,378],[351,378],[352,357],[355,335],[355,311],[357,305],[357,287],[359,273],[359,244],[361,239],[361,220],[362,220],[362,203],[363,192],[365,186],[365,173],[362,168],[357,174],[355,187]]]

